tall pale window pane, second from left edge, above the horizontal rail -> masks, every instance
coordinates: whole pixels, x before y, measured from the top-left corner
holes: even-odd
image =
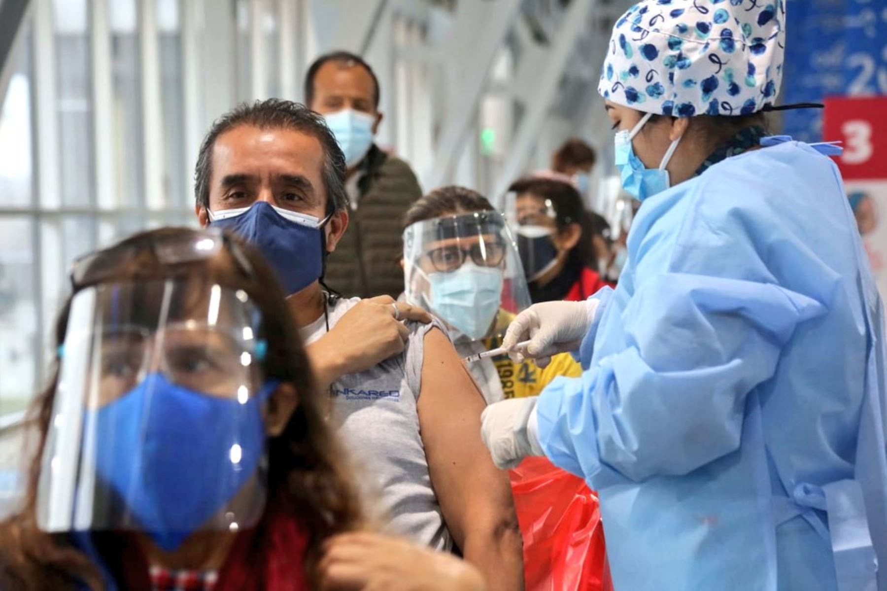
[[[95,193],[89,6],[54,0],[61,202],[87,206]]]

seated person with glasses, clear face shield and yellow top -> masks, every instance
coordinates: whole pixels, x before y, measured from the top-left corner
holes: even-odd
[[[443,320],[459,356],[498,348],[508,324],[530,305],[511,232],[480,193],[436,189],[404,218],[404,299]],[[568,354],[540,369],[507,355],[467,364],[488,404],[538,395],[558,375],[581,368]]]

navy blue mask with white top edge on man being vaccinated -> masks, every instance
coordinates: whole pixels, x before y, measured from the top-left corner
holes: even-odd
[[[248,208],[209,212],[212,225],[230,228],[262,251],[277,272],[287,296],[320,279],[324,272],[326,241],[324,226],[331,216],[319,220],[288,209],[256,201]]]

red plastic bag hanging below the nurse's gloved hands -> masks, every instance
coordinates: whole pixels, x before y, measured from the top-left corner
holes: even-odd
[[[598,497],[546,458],[509,472],[528,591],[613,591]]]

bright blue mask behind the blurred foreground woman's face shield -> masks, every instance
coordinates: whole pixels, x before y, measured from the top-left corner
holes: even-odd
[[[114,441],[98,448],[98,476],[158,546],[179,548],[254,476],[265,444],[261,406],[276,386],[241,404],[149,374],[87,414],[91,429]]]

